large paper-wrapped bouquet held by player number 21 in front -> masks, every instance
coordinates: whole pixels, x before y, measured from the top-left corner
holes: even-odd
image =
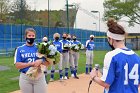
[[[50,64],[57,64],[60,61],[60,53],[57,51],[57,48],[52,44],[52,42],[42,42],[37,44],[38,48],[38,58],[44,58],[46,62]],[[26,75],[31,79],[39,78],[42,72],[45,71],[44,65],[40,67],[30,67],[26,72]]]

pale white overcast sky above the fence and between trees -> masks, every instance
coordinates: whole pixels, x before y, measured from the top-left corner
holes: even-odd
[[[104,8],[104,0],[69,0],[69,4],[76,3],[80,6],[76,16],[76,28],[107,31],[106,22],[102,21]],[[47,10],[48,0],[27,0],[31,9]],[[51,10],[65,9],[66,0],[50,0]],[[91,11],[98,11],[98,13],[91,13]],[[99,16],[100,15],[100,16]],[[100,19],[99,19],[100,18]],[[129,27],[126,22],[119,22],[128,33],[140,33],[139,25]]]

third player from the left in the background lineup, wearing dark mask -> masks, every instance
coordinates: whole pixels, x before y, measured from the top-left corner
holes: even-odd
[[[60,40],[62,42],[63,50],[62,50],[62,64],[65,68],[65,77],[64,79],[68,79],[68,70],[69,70],[69,41],[67,40],[67,34],[64,33],[62,35],[63,40]]]

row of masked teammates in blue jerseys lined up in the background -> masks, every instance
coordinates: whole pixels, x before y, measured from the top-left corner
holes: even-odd
[[[90,35],[90,39],[86,41],[86,70],[85,73],[89,74],[92,70],[93,64],[93,49],[94,49],[94,35]],[[71,77],[75,79],[79,79],[77,76],[78,70],[78,60],[79,60],[79,51],[73,51],[69,48],[65,48],[65,45],[73,45],[73,44],[81,44],[80,41],[77,40],[75,35],[70,35],[67,33],[62,34],[62,40],[60,40],[60,34],[55,33],[53,35],[53,44],[56,46],[57,50],[61,53],[60,62],[57,64],[59,69],[59,78],[60,80],[67,80],[68,72],[70,69]],[[43,37],[43,42],[48,42],[47,36]],[[51,76],[50,81],[54,81],[54,73],[55,73],[55,65],[51,66]]]

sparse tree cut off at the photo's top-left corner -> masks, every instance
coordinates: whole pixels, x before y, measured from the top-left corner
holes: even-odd
[[[9,0],[0,0],[0,20],[3,20],[3,15],[9,11]]]

